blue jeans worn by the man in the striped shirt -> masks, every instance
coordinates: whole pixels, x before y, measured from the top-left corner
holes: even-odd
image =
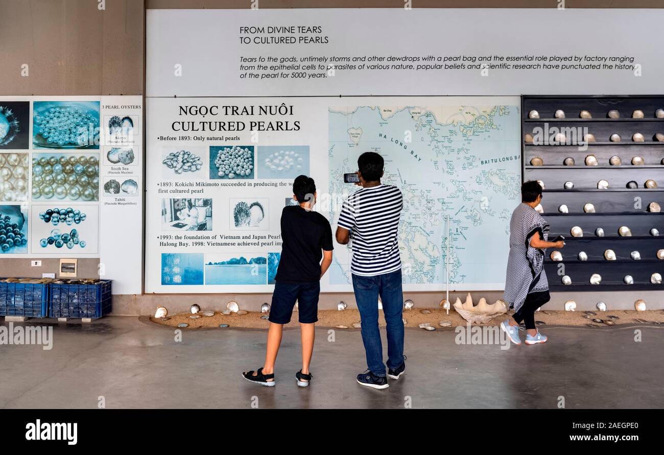
[[[396,369],[404,362],[404,296],[401,270],[376,276],[353,274],[355,301],[362,318],[362,341],[367,353],[367,367],[376,376],[385,376],[382,342],[378,330],[378,296],[387,323],[387,367]]]

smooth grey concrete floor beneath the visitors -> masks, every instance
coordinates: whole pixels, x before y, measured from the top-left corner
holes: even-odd
[[[50,351],[0,345],[0,408],[96,408],[100,397],[106,408],[555,408],[558,397],[568,409],[664,407],[664,327],[651,325],[546,327],[548,343],[505,351],[457,345],[453,329],[406,329],[406,375],[384,391],[355,383],[366,364],[354,329],[335,341],[317,329],[303,389],[298,329],[284,332],[268,388],[240,377],[262,366],[265,331],[185,330],[176,342],[172,328],[135,317],[49,325]]]

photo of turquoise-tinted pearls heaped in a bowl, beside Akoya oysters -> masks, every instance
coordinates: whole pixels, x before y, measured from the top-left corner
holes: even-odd
[[[35,101],[35,149],[98,149],[98,101]]]

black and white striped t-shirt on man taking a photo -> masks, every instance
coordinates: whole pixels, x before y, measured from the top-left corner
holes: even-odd
[[[376,276],[401,268],[399,217],[401,191],[392,185],[362,188],[349,195],[339,214],[339,226],[351,230],[351,272]]]

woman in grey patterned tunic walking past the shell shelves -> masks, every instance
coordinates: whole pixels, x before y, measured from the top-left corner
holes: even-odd
[[[544,272],[544,250],[562,248],[564,242],[548,242],[548,223],[537,213],[542,201],[542,187],[537,181],[521,185],[522,203],[509,222],[509,258],[503,300],[515,310],[513,319],[501,323],[511,341],[521,344],[519,323],[526,325],[526,344],[545,343],[546,336],[535,327],[537,308],[550,300]]]

